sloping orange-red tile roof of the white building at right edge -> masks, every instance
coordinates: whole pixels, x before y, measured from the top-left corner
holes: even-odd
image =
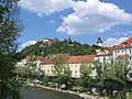
[[[124,41],[123,43],[121,43],[121,44],[114,46],[114,50],[116,50],[116,48],[132,47],[132,46],[131,46],[131,43],[132,43],[132,37],[130,37],[130,38],[128,38],[127,41]],[[123,44],[124,44],[124,46],[123,46]]]

